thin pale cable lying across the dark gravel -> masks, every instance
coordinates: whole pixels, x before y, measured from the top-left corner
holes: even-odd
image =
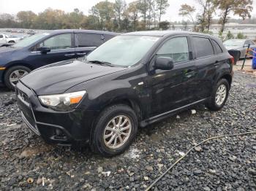
[[[168,171],[170,171],[176,164],[178,164],[184,157],[186,157],[189,152],[192,151],[192,149],[195,149],[195,147],[198,147],[200,146],[201,144],[205,143],[206,141],[210,141],[212,139],[220,139],[220,138],[223,138],[223,137],[227,137],[227,136],[245,136],[245,135],[249,135],[249,134],[256,134],[256,131],[250,131],[250,132],[246,132],[246,133],[236,133],[236,134],[230,134],[230,135],[224,135],[224,136],[213,136],[213,137],[210,137],[208,139],[205,139],[203,141],[201,141],[199,144],[196,144],[194,147],[192,147],[191,149],[189,149],[185,155],[183,155],[182,157],[180,157],[178,160],[176,160],[175,163],[173,163],[173,165],[171,165],[169,168],[167,168],[167,170],[161,174],[152,184],[150,184],[150,186],[148,186],[146,188],[146,191],[150,190],[152,187],[154,187],[155,184],[157,184],[157,182],[159,182],[160,179],[162,179],[163,176],[165,176],[165,174],[167,174]]]

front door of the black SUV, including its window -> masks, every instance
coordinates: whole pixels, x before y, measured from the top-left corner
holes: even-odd
[[[162,44],[157,57],[173,58],[174,68],[157,69],[151,78],[151,117],[195,101],[195,62],[192,61],[188,36],[175,36]]]

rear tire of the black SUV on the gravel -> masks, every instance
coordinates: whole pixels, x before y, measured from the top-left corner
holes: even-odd
[[[217,91],[220,90],[220,92],[222,92],[221,90],[223,85],[225,87],[225,93],[223,93],[222,95],[225,95],[225,98],[220,96],[221,98],[219,97],[219,99],[217,99]],[[227,82],[227,79],[219,79],[219,82],[217,82],[217,84],[214,87],[214,90],[211,93],[211,97],[208,99],[206,103],[206,107],[212,111],[219,111],[220,109],[222,109],[222,107],[225,105],[227,101],[229,90],[230,85]]]

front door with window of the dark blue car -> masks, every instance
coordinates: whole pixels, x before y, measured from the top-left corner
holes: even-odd
[[[37,67],[75,58],[73,33],[50,36],[48,39],[37,44],[34,49],[37,50],[39,47],[49,47],[50,52],[42,53],[37,51],[37,55],[34,55],[34,61],[32,61],[37,64]]]

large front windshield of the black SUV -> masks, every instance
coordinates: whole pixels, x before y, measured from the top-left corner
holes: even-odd
[[[116,36],[91,52],[86,61],[132,66],[146,55],[158,39],[156,36]]]

